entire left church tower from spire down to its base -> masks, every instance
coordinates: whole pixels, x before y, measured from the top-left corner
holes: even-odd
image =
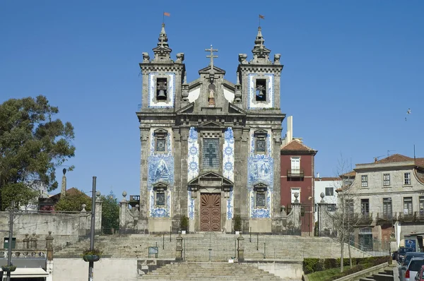
[[[165,24],[160,30],[153,59],[143,53],[140,122],[140,219],[139,232],[170,230],[174,190],[174,145],[172,126],[175,109],[181,106],[185,76],[184,54],[171,59]],[[160,218],[160,220],[159,220]]]

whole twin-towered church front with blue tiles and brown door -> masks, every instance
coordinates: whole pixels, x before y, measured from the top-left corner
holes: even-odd
[[[244,232],[281,232],[281,55],[269,59],[259,27],[234,84],[212,46],[192,82],[184,54],[171,52],[163,25],[153,58],[140,63],[139,231],[176,231],[187,216],[189,232],[232,232],[240,216]]]

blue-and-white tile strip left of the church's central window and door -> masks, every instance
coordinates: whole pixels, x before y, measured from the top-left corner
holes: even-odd
[[[196,128],[191,127],[189,131],[189,151],[187,155],[187,180],[191,181],[192,179],[199,176],[199,143]],[[188,192],[188,217],[189,220],[194,220],[194,199],[192,198],[192,191]]]

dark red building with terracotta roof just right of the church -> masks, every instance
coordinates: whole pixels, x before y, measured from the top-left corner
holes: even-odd
[[[295,202],[302,205],[302,235],[314,234],[314,156],[317,150],[307,147],[300,138],[293,139],[292,116],[287,119],[285,141],[281,145],[281,205],[287,213]]]

